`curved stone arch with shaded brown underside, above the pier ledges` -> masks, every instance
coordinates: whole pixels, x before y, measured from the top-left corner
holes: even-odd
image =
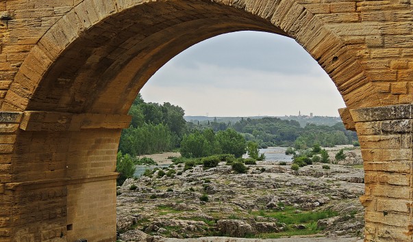
[[[364,100],[373,95],[373,87],[355,55],[325,31],[314,14],[297,4],[280,4],[278,9],[277,3],[269,4],[262,3],[265,8],[261,12],[251,13],[246,11],[248,5],[198,0],[149,2],[110,14],[87,29],[68,26],[56,30],[66,38],[77,31],[77,38],[58,48],[40,40],[40,55],[27,57],[3,109],[124,114],[140,88],[169,59],[207,38],[242,30],[296,38],[334,80],[347,106],[377,103],[377,98]],[[295,11],[297,19],[284,17],[286,8]],[[268,9],[275,11],[273,15]],[[86,16],[78,12],[74,14],[77,21],[86,22]],[[67,25],[70,18],[60,21]],[[59,34],[52,37],[58,39]],[[47,34],[43,39],[47,40]],[[30,66],[45,57],[42,70]]]

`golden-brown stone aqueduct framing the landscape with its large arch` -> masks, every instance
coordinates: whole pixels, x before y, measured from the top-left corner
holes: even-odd
[[[140,88],[221,33],[294,38],[360,138],[365,241],[413,241],[411,0],[0,1],[0,241],[116,240],[116,150]]]

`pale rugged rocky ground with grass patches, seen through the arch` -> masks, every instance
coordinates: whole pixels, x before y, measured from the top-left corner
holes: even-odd
[[[334,150],[329,152],[334,157]],[[155,172],[128,179],[118,187],[118,239],[356,241],[364,227],[358,200],[364,193],[364,172],[360,150],[346,153],[342,163],[351,165],[329,164],[329,169],[314,163],[295,172],[290,164],[259,161],[248,165],[247,174],[235,174],[225,163],[186,171],[172,165],[173,177]],[[308,239],[308,234],[315,235]]]

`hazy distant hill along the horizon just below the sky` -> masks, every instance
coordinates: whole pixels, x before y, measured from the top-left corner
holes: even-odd
[[[212,122],[216,118],[216,122],[238,122],[241,118],[251,118],[251,119],[260,119],[269,116],[251,116],[251,117],[207,117],[207,116],[184,116],[187,122],[193,122],[197,124],[199,121],[200,124],[206,123],[208,121]],[[300,123],[301,127],[304,127],[306,124],[317,124],[317,125],[327,125],[333,126],[338,122],[342,122],[339,117],[327,117],[327,116],[272,116],[275,118],[280,118],[281,120],[295,120]]]

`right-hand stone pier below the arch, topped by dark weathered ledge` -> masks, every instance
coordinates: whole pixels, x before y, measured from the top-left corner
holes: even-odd
[[[351,110],[364,160],[366,241],[413,241],[412,107]]]

